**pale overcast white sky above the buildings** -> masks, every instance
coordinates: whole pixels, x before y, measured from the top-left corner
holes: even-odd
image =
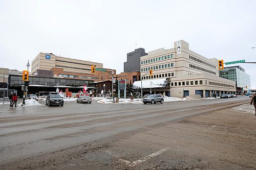
[[[126,53],[184,40],[224,62],[256,62],[256,1],[0,0],[0,67],[26,69],[39,52],[123,71]],[[256,64],[240,64],[256,89]],[[230,65],[231,66],[231,65]]]

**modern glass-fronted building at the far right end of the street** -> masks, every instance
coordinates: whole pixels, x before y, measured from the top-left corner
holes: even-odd
[[[248,91],[251,88],[250,75],[246,74],[241,66],[224,67],[219,71],[219,75],[224,79],[236,82],[238,94],[241,94],[244,89]]]

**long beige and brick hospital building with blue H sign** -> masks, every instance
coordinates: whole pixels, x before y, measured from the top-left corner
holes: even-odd
[[[32,61],[31,72],[33,75],[37,76],[49,75],[48,77],[63,77],[94,81],[108,80],[112,77],[110,73],[105,71],[96,70],[95,74],[92,74],[92,65],[95,65],[96,68],[103,68],[102,63],[59,57],[52,53],[39,53]],[[116,74],[116,70],[114,69],[104,69]]]

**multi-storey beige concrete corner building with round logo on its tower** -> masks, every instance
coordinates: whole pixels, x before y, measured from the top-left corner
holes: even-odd
[[[153,69],[152,77],[150,69]],[[217,58],[207,59],[189,50],[188,43],[183,40],[174,42],[174,48],[160,48],[140,57],[140,70],[142,80],[152,83],[156,79],[168,80],[163,89],[152,89],[153,93],[208,97],[236,92],[236,82],[219,77]],[[143,90],[148,91],[148,88]]]

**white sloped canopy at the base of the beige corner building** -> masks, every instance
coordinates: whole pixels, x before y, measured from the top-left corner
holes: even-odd
[[[166,79],[142,80],[142,88],[163,88],[167,82]],[[133,88],[141,88],[141,81],[134,82]]]

